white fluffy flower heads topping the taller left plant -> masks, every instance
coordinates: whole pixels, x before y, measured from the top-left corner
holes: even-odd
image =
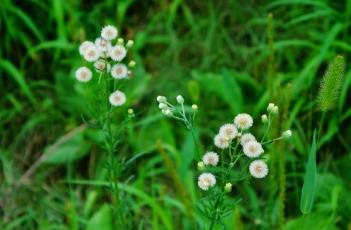
[[[135,66],[135,61],[130,61],[128,66],[124,64],[128,50],[134,42],[128,40],[126,43],[123,38],[118,37],[118,30],[112,25],[104,26],[100,37],[94,42],[84,41],[79,46],[79,53],[86,61],[87,66],[91,66],[100,74],[111,75],[113,79],[128,79],[131,71],[128,69]],[[93,72],[87,66],[82,66],[76,70],[76,79],[80,82],[89,82],[93,78]],[[100,80],[99,80],[100,81]],[[121,106],[126,102],[126,95],[115,90],[109,96],[112,106]]]

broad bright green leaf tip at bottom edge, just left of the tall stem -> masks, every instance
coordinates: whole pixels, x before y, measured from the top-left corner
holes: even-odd
[[[112,230],[112,213],[107,204],[104,204],[88,221],[87,230]]]

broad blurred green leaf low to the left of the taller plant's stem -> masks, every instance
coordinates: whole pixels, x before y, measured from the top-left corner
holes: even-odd
[[[49,164],[65,164],[75,161],[89,153],[91,144],[84,138],[84,129],[66,134],[45,152],[43,162]]]

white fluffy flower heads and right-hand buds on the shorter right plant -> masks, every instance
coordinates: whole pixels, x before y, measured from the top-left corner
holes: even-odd
[[[253,126],[253,118],[246,113],[238,114],[233,123],[224,124],[220,127],[219,132],[214,137],[214,145],[222,151],[221,158],[229,158],[230,162],[227,164],[227,170],[232,169],[241,156],[246,156],[251,163],[248,170],[254,178],[264,178],[268,175],[268,165],[263,160],[264,154],[263,146],[274,141],[289,138],[292,135],[290,130],[286,130],[278,138],[270,141],[264,141],[267,132],[270,129],[273,115],[278,113],[278,106],[270,103],[267,107],[268,115],[262,115],[262,122],[266,124],[266,133],[261,140],[258,140],[249,129]],[[228,151],[225,155],[224,151]],[[223,161],[224,159],[221,159]],[[204,171],[206,167],[217,166],[219,162],[219,155],[215,152],[207,152],[203,155],[202,161],[198,162],[198,169]],[[209,188],[216,185],[216,177],[210,172],[203,172],[198,177],[198,186],[202,190],[207,191]],[[232,184],[225,182],[224,191],[230,192]]]

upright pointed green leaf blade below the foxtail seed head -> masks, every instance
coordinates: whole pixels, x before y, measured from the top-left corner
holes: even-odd
[[[316,130],[313,132],[313,141],[311,150],[308,156],[306,165],[306,172],[304,176],[304,183],[302,187],[300,210],[302,213],[310,213],[313,206],[317,185],[317,164],[316,164],[317,140]]]

